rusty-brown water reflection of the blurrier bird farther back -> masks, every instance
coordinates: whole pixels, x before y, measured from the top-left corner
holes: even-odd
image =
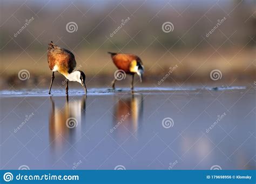
[[[142,94],[132,94],[130,97],[120,98],[114,107],[112,132],[122,136],[135,132],[134,135],[136,135],[139,123],[142,122],[142,112]]]

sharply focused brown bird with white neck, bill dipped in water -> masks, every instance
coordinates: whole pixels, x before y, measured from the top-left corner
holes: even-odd
[[[70,52],[68,49],[58,47],[51,41],[51,43],[48,44],[47,58],[49,68],[52,70],[49,94],[51,94],[51,86],[55,78],[54,72],[61,73],[68,80],[66,81],[66,94],[68,94],[69,91],[69,81],[79,82],[82,84],[85,93],[87,93],[85,86],[85,74],[80,70],[73,71],[77,65],[77,62],[72,52]]]

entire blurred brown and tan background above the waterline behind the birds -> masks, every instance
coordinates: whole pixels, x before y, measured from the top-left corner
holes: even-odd
[[[110,87],[116,67],[107,51],[142,59],[144,82],[136,86],[248,86],[255,80],[255,9],[250,0],[1,1],[1,89],[48,87],[50,41],[73,52],[88,87]],[[24,70],[30,80],[19,80]],[[61,86],[64,76],[55,80]]]

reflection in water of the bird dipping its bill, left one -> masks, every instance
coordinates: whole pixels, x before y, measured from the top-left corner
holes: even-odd
[[[70,144],[82,135],[82,123],[85,118],[86,96],[79,100],[70,100],[66,96],[63,107],[57,107],[50,97],[52,108],[49,118],[49,137],[53,148],[63,147],[66,141]]]

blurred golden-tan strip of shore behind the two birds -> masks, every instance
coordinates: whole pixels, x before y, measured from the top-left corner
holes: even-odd
[[[117,68],[105,50],[101,49],[94,54],[93,51],[78,51],[76,53],[77,68],[85,72],[86,82],[89,83],[89,86],[106,87],[106,85],[110,85],[114,77],[114,71]],[[215,54],[206,49],[205,51],[189,53],[189,51],[176,51],[167,54],[159,51],[144,52],[140,55],[145,66],[143,84],[159,86],[158,83],[160,83],[161,86],[163,78],[166,78],[163,85],[183,83],[213,83],[213,85],[220,83],[221,85],[228,85],[235,82],[247,86],[247,83],[255,81],[254,48],[242,51],[231,49]],[[39,55],[38,57],[40,57]],[[3,60],[8,58],[12,60],[12,57],[15,57],[15,55],[4,56]],[[82,58],[85,60],[82,60]],[[2,63],[2,65],[4,64]],[[8,63],[0,70],[2,73],[0,77],[1,89],[8,89],[10,86],[18,88],[47,87],[51,80],[52,72],[48,67],[46,54],[43,57],[41,56],[37,63],[31,59],[29,60],[26,56],[19,56],[19,62],[16,65],[9,67],[8,72],[6,72],[6,68],[8,68]],[[214,69],[221,72],[221,79],[217,81],[210,77],[211,71]],[[28,71],[29,79],[19,79],[19,72],[22,70]],[[130,85],[131,76],[127,75],[126,78],[124,81],[118,82],[119,85]],[[64,76],[56,72],[55,83],[61,86],[63,81],[65,82]]]

